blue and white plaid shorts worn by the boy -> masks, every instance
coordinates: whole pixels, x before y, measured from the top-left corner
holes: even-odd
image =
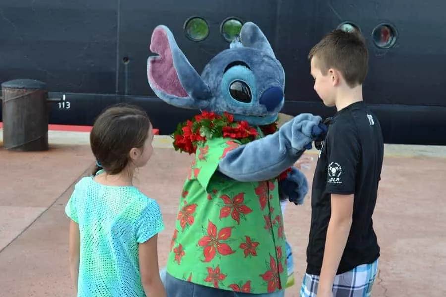
[[[353,270],[335,276],[333,297],[371,297],[372,285],[378,272],[378,259],[372,264],[364,264]],[[316,297],[319,276],[305,274],[300,289],[300,297]]]

